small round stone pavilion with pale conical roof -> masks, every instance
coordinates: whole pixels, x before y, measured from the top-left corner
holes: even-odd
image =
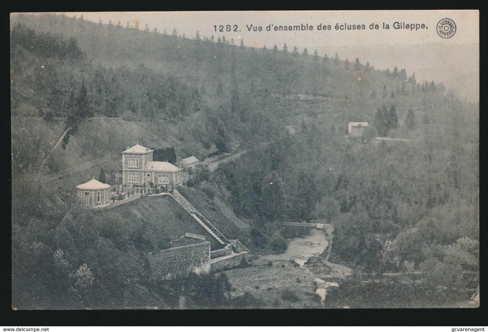
[[[76,186],[78,201],[84,207],[92,209],[103,208],[110,205],[110,188],[112,186],[96,180],[95,177],[88,182]]]

